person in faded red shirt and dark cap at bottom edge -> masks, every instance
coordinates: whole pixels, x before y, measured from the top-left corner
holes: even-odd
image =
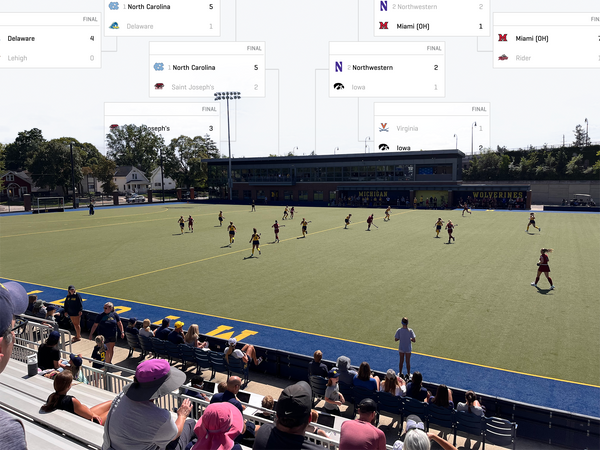
[[[358,419],[347,420],[340,432],[340,450],[385,450],[385,433],[374,423],[377,403],[365,398],[358,404]]]

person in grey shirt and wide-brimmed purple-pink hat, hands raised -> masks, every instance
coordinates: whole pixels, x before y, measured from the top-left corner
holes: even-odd
[[[188,419],[192,405],[185,399],[177,409],[177,419],[153,400],[179,388],[185,374],[164,359],[142,361],[129,383],[113,400],[104,426],[102,448],[143,450],[166,447],[182,450],[191,441],[195,422]]]

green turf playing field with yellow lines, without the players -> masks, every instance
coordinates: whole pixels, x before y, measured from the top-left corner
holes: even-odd
[[[219,228],[217,215],[225,222]],[[419,353],[600,385],[600,215],[153,205],[0,218],[0,276],[395,347],[402,316]],[[343,229],[351,212],[354,223]],[[379,226],[366,232],[366,217]],[[196,219],[179,234],[180,215]],[[456,243],[435,239],[438,216]],[[301,235],[302,217],[312,221]],[[281,243],[271,225],[282,225]],[[226,224],[238,229],[229,248]],[[262,255],[250,255],[252,227]],[[557,286],[530,286],[552,247]]]

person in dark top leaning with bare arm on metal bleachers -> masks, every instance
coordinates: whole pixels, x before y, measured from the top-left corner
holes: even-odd
[[[54,392],[50,394],[48,400],[46,400],[46,404],[42,406],[41,410],[44,412],[52,412],[57,409],[62,409],[71,414],[77,414],[84,419],[93,420],[100,425],[104,424],[112,402],[109,400],[88,408],[72,395],[67,395],[72,384],[73,374],[68,370],[57,374],[54,378]]]

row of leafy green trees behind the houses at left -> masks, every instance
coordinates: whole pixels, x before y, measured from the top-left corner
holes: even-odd
[[[73,172],[75,185],[82,192],[81,183],[89,175],[101,183],[103,192],[117,190],[114,175],[118,166],[138,167],[150,179],[161,165],[165,177],[177,186],[206,188],[207,164],[204,159],[220,158],[210,136],[179,136],[169,144],[145,125],[121,125],[106,135],[107,154],[104,156],[88,142],[62,137],[46,140],[42,131],[32,128],[18,133],[14,142],[0,144],[0,172],[27,171],[36,186],[67,192],[72,181],[71,149],[73,145]]]

